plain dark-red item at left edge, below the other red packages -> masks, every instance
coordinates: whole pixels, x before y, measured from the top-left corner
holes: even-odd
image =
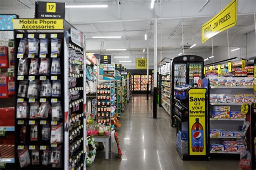
[[[14,126],[14,108],[0,108],[0,126]]]

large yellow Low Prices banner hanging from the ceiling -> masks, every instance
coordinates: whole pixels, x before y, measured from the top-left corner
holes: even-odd
[[[237,1],[232,0],[223,10],[202,26],[202,43],[237,24]]]

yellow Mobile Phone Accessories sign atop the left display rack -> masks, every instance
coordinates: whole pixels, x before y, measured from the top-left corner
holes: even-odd
[[[63,30],[63,19],[14,19],[14,30]]]

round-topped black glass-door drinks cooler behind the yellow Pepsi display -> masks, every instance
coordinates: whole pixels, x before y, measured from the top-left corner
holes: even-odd
[[[183,55],[177,56],[172,60],[172,90],[176,86],[183,86],[190,84],[193,86],[195,81],[203,79],[204,76],[204,59],[197,55]],[[175,105],[179,105],[179,100],[175,100],[172,95],[172,107],[171,107],[171,123],[172,126],[176,126],[176,118],[173,117],[173,110]]]

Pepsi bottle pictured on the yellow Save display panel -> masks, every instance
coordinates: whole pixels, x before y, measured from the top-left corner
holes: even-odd
[[[199,123],[199,118],[196,118],[196,123],[193,124],[191,129],[192,137],[192,151],[193,152],[203,152],[204,150],[204,129]]]

